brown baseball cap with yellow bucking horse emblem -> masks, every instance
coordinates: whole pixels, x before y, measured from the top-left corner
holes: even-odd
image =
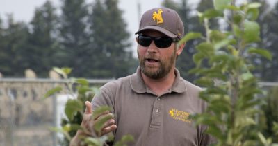
[[[168,37],[181,39],[184,35],[183,22],[175,10],[170,8],[153,8],[147,10],[141,17],[139,29],[135,34],[142,30],[158,30]]]

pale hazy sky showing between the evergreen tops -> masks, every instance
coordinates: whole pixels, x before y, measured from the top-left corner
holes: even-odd
[[[15,21],[31,21],[36,7],[42,6],[46,0],[0,0],[0,17],[6,19],[6,14],[12,13]],[[55,6],[60,6],[61,0],[50,0]],[[93,0],[87,0],[91,3]],[[131,41],[134,42],[132,49],[136,50],[135,35],[138,29],[138,3],[141,5],[141,13],[150,8],[161,6],[163,0],[119,0],[119,7],[124,11],[124,19],[128,24],[127,30],[131,33]],[[179,0],[174,0],[179,1]],[[196,3],[198,0],[188,0],[191,3]],[[194,2],[193,2],[194,1]],[[244,0],[242,0],[244,1]],[[269,0],[277,1],[277,0]]]

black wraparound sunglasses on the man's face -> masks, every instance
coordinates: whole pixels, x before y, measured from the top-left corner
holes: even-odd
[[[149,46],[154,40],[154,44],[158,48],[168,48],[171,46],[172,42],[179,42],[179,39],[172,39],[171,37],[149,37],[146,35],[138,35],[138,44],[141,46]]]

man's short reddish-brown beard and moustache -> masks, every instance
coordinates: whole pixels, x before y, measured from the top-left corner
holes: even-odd
[[[149,55],[148,57],[153,58],[154,55]],[[174,66],[176,60],[176,51],[174,51],[172,55],[170,57],[167,57],[165,60],[161,60],[161,58],[159,58],[158,63],[160,64],[160,67],[155,71],[153,71],[154,69],[150,69],[149,66],[145,66],[146,60],[144,57],[140,58],[138,56],[138,58],[140,60],[140,69],[142,73],[152,79],[161,79],[165,77],[165,75],[167,75],[171,71],[172,66]]]

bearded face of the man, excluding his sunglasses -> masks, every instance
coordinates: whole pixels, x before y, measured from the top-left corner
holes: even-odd
[[[164,37],[163,33],[156,30],[145,30],[142,35],[149,37]],[[167,48],[158,48],[154,41],[149,46],[138,44],[138,59],[140,69],[147,77],[152,79],[161,79],[167,75],[171,69],[174,69],[177,58],[175,44]]]

